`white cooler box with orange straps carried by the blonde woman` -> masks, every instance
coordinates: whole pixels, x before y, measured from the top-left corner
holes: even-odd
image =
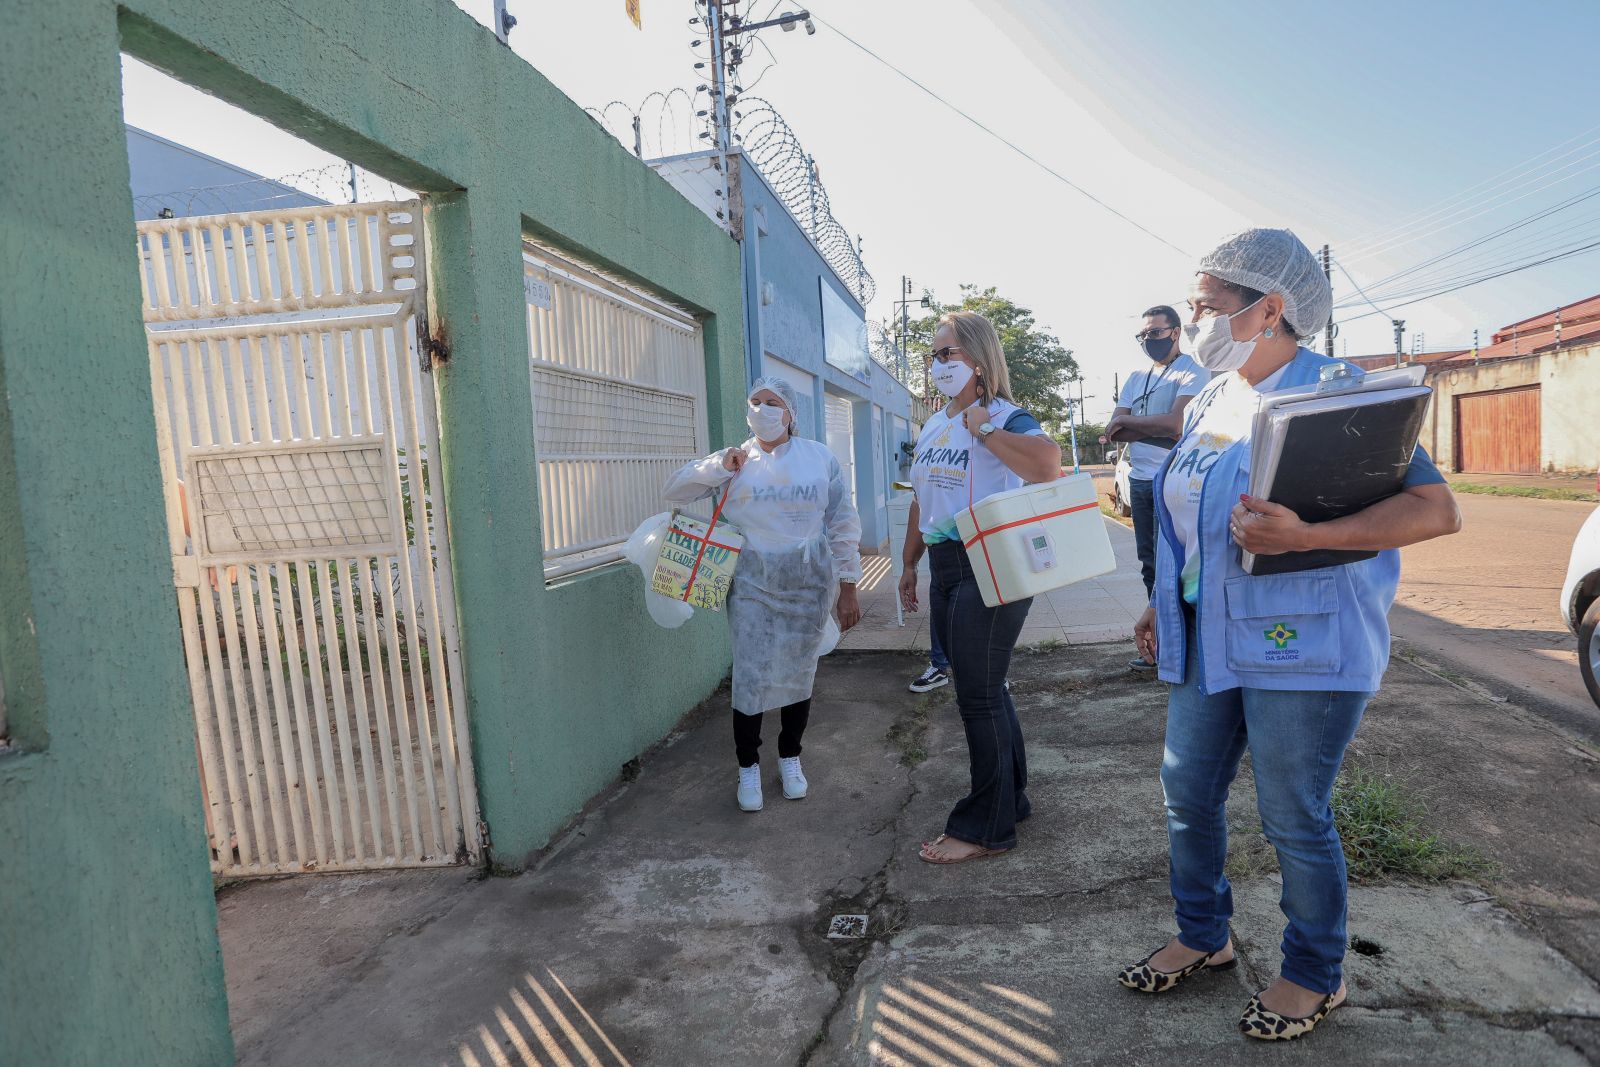
[[[957,512],[955,526],[990,608],[1117,569],[1086,474],[986,496]]]

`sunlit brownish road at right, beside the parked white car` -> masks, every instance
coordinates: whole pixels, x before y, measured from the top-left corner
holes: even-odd
[[[1402,552],[1395,637],[1422,659],[1563,729],[1600,739],[1557,600],[1573,537],[1594,504],[1456,496],[1462,528]]]

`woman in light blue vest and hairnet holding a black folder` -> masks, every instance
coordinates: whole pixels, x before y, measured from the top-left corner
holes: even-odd
[[[1162,787],[1178,936],[1120,981],[1158,993],[1234,965],[1224,805],[1248,750],[1288,926],[1280,977],[1238,1025],[1269,1040],[1309,1033],[1344,1003],[1346,870],[1333,781],[1389,664],[1397,549],[1461,528],[1421,448],[1402,493],[1333,522],[1304,523],[1245,493],[1258,397],[1315,384],[1334,362],[1299,346],[1323,328],[1331,304],[1322,266],[1288,230],[1246,230],[1200,261],[1184,330],[1214,378],[1189,405],[1184,437],[1155,480],[1157,582],[1134,630],[1173,685]],[[1378,555],[1248,576],[1240,549]]]

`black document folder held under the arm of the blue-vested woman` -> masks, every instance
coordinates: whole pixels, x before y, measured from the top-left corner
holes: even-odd
[[[1256,421],[1250,493],[1307,523],[1352,515],[1400,491],[1416,451],[1430,389],[1384,389],[1299,400]],[[1370,560],[1376,552],[1318,549],[1254,555],[1248,574],[1285,574]]]

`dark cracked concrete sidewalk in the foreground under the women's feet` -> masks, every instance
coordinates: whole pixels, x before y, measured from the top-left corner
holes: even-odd
[[[1277,969],[1248,771],[1230,801],[1243,966],[1150,998],[1117,969],[1171,931],[1163,686],[1117,646],[1019,654],[1035,814],[1016,853],[930,867],[965,792],[949,689],[909,654],[819,672],[806,773],[736,809],[726,694],[627,768],[528,873],[226,889],[245,1064],[1581,1064],[1600,1051],[1600,758],[1397,662],[1352,763],[1427,795],[1488,886],[1357,886],[1350,1003],[1272,1053],[1234,1024]],[[866,915],[864,937],[830,939]]]

